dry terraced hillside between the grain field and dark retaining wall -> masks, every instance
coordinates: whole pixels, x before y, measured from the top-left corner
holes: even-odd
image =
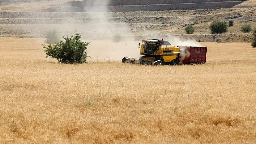
[[[256,27],[256,8],[179,10],[161,12],[125,13],[43,13],[43,12],[0,12],[3,35],[7,36],[44,36],[50,29],[60,35],[76,31],[88,39],[109,39],[114,34],[123,38],[149,38],[150,36],[178,35],[205,42],[246,42],[250,34],[240,31],[242,25]],[[96,15],[95,15],[96,14]],[[234,20],[226,34],[210,34],[209,25],[216,19]],[[185,26],[192,24],[194,35],[185,35]]]

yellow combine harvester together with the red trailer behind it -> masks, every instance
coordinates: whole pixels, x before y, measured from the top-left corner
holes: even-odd
[[[166,40],[146,39],[140,46],[140,58],[124,57],[123,63],[141,65],[205,64],[207,47],[172,46]]]

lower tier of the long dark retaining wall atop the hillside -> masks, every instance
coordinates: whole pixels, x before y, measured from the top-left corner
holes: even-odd
[[[126,5],[107,6],[109,12],[137,12],[137,11],[160,11],[160,10],[189,10],[189,9],[217,9],[232,8],[241,1],[222,3],[192,3],[192,4],[165,4],[165,5]],[[43,12],[104,12],[104,7],[54,7],[41,10]]]

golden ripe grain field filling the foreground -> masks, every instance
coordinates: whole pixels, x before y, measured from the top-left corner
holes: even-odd
[[[1,143],[256,143],[249,43],[202,43],[205,65],[154,67],[57,64],[42,42],[0,39]]]

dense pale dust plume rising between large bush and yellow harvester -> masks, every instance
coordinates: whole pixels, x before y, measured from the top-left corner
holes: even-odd
[[[114,22],[110,18],[112,13],[108,13],[107,5],[109,0],[95,0],[91,5],[99,7],[86,7],[84,11],[91,19],[84,24],[85,31],[93,31],[91,36],[104,40],[89,40],[88,55],[92,58],[89,61],[121,61],[123,57],[140,57],[138,43],[134,41],[134,34],[131,27],[124,22]],[[89,29],[88,27],[89,26]]]

